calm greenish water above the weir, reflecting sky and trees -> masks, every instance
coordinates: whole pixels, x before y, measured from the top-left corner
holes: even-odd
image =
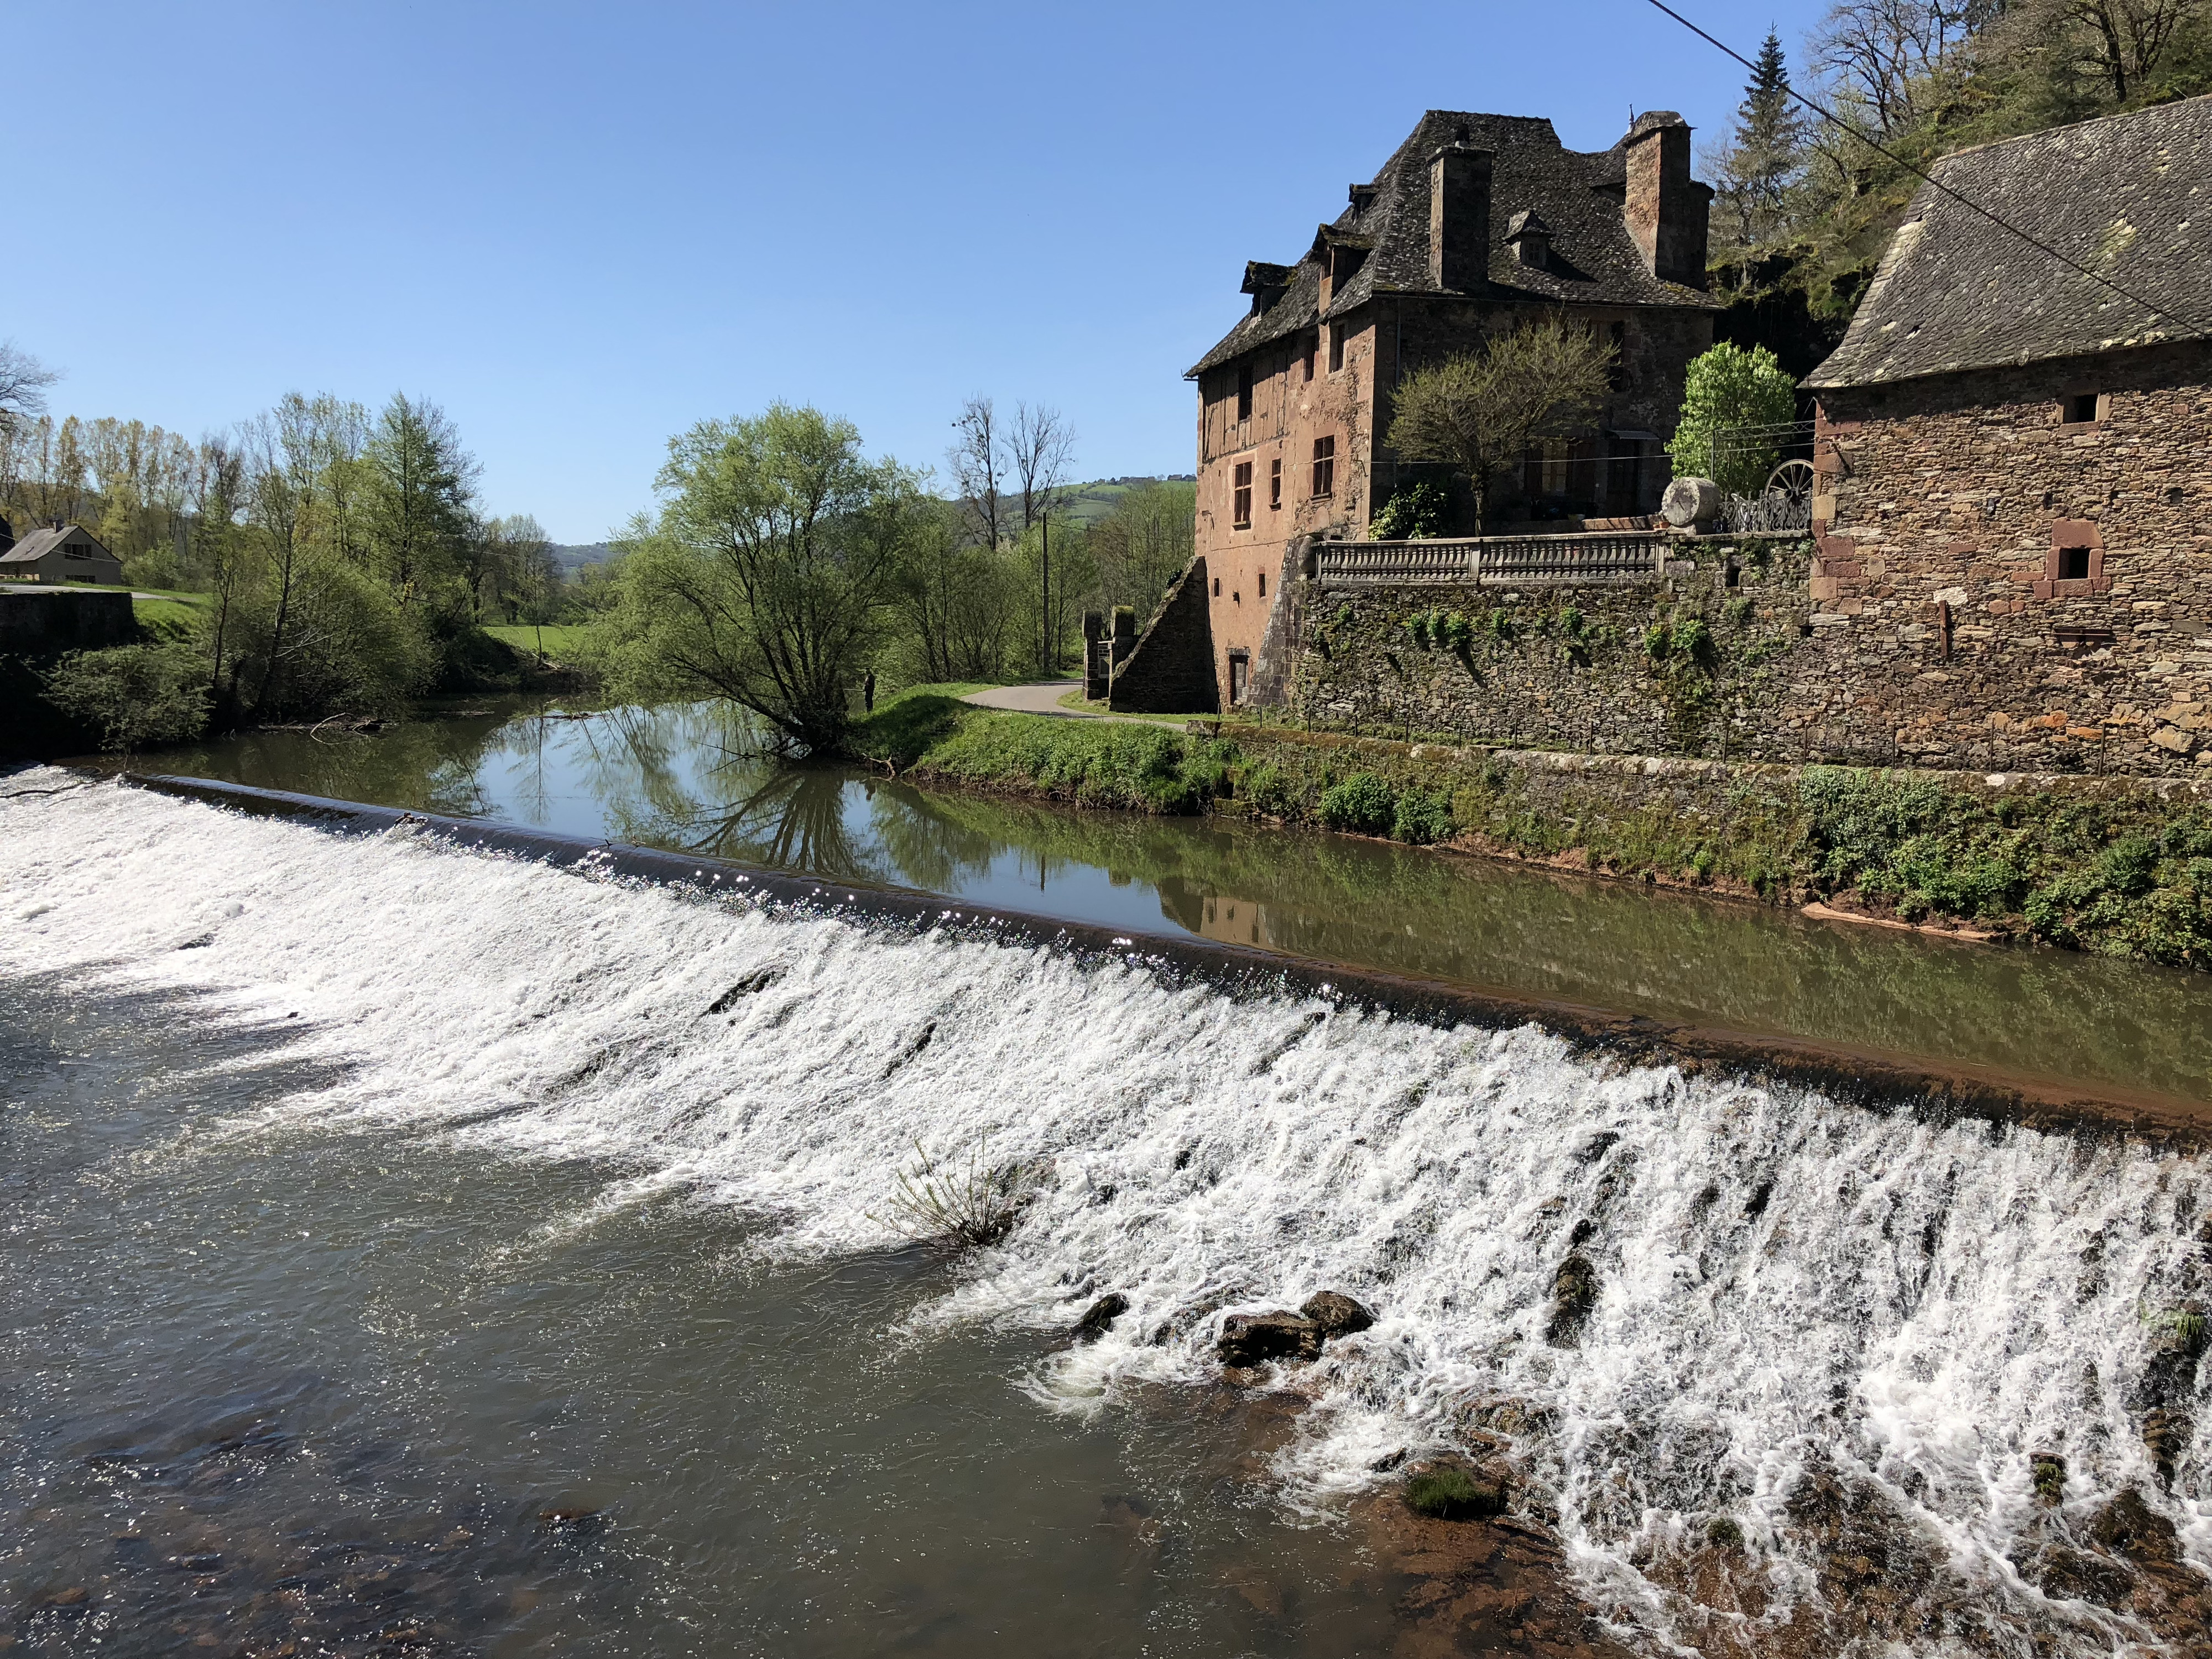
[[[2212,982],[1385,843],[774,768],[710,706],[254,732],[150,770],[918,887],[1522,998],[2212,1102]]]

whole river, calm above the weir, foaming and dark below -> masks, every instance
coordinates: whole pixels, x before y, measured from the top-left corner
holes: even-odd
[[[495,710],[159,770],[2208,1093],[2183,975],[723,748]],[[2197,1152],[53,770],[0,796],[29,1652],[2205,1635]],[[2035,1037],[2084,1009],[2121,1029]],[[1026,1170],[1000,1245],[883,1219],[916,1146]],[[1323,1287],[1376,1327],[1223,1387],[1221,1318]],[[1500,1568],[1409,1551],[1389,1469],[1440,1449],[1511,1471],[1564,1604],[1469,1615]]]

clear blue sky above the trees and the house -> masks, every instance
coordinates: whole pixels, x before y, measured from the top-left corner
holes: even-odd
[[[1818,7],[1688,0],[1741,51]],[[772,398],[938,465],[1060,407],[1084,476],[1192,467],[1181,372],[1422,108],[1630,106],[1743,71],[1644,0],[1557,4],[55,4],[0,0],[0,338],[55,411],[199,436],[420,392],[489,511],[597,540],[668,434]],[[42,91],[44,88],[44,91]]]

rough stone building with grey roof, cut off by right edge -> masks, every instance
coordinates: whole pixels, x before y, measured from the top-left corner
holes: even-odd
[[[1936,179],[2086,270],[1922,186],[1807,378],[1838,710],[1922,765],[2212,765],[2212,97]]]

